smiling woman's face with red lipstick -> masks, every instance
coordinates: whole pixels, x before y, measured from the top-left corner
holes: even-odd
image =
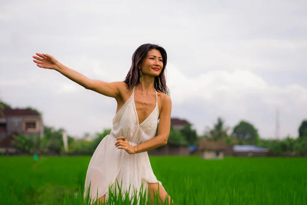
[[[143,74],[153,77],[158,76],[163,68],[162,55],[160,51],[156,49],[148,51],[146,57],[142,60],[140,67]]]

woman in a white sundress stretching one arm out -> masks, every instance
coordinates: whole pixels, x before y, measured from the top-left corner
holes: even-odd
[[[113,97],[117,110],[113,128],[96,148],[85,179],[85,191],[94,201],[104,201],[108,188],[117,182],[129,196],[140,194],[141,187],[158,192],[164,201],[170,198],[153,174],[148,150],[167,144],[170,131],[171,100],[165,80],[166,51],[157,45],[144,44],[132,57],[131,68],[124,81],[106,83],[89,79],[59,63],[49,54],[36,53],[33,61],[40,68],[53,69],[86,89]],[[155,137],[159,121],[158,135]],[[142,194],[143,192],[141,192]]]

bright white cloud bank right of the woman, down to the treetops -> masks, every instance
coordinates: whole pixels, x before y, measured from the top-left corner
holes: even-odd
[[[250,71],[217,70],[186,78],[174,65],[167,69],[172,103],[182,109],[173,114],[190,119],[199,132],[222,116],[230,126],[251,120],[261,136],[272,137],[278,109],[283,137],[296,136],[300,121],[307,116],[307,89],[300,85],[270,86]],[[195,107],[193,112],[183,111],[190,106]]]

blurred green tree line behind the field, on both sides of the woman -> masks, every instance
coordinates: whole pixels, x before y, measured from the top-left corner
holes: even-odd
[[[0,101],[0,111],[3,108],[10,108],[10,106]],[[31,109],[38,112],[33,108]],[[105,129],[94,134],[85,133],[79,139],[68,136],[68,152],[64,150],[62,132],[65,132],[63,128],[55,129],[45,126],[43,137],[38,135],[29,137],[19,134],[14,136],[12,145],[18,148],[20,153],[92,155],[100,141],[111,132],[111,129]],[[287,136],[283,139],[265,139],[260,138],[258,130],[246,120],[239,121],[231,129],[225,125],[225,121],[221,117],[218,117],[215,124],[212,127],[207,127],[202,135],[198,135],[188,124],[180,130],[173,129],[171,126],[168,144],[197,146],[199,140],[202,139],[225,140],[230,146],[255,145],[268,148],[277,155],[307,156],[307,119],[302,120],[298,126],[298,136],[296,138]]]

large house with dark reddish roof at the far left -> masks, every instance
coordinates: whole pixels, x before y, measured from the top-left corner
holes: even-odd
[[[4,109],[0,111],[0,148],[11,148],[13,135],[43,135],[41,114],[31,109]],[[0,151],[1,152],[1,151]]]

